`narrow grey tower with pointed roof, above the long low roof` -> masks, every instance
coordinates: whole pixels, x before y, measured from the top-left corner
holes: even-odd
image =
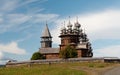
[[[48,29],[48,25],[46,23],[45,30],[41,36],[41,48],[51,48],[52,47],[52,36]]]

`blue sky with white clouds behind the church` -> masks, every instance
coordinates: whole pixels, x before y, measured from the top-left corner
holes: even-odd
[[[120,0],[0,0],[0,61],[29,60],[47,21],[53,47],[62,23],[78,17],[94,57],[120,57]],[[2,62],[0,62],[2,63]]]

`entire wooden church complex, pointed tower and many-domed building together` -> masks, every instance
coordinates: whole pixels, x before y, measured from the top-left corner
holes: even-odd
[[[52,36],[48,25],[46,24],[45,30],[41,36],[41,48],[39,48],[39,52],[43,54],[46,59],[60,58],[60,50],[64,50],[67,45],[70,45],[77,50],[78,58],[93,56],[91,43],[89,42],[86,33],[83,32],[78,20],[74,25],[72,25],[69,20],[67,27],[64,25],[61,29],[59,37],[61,38],[59,48],[52,48]]]

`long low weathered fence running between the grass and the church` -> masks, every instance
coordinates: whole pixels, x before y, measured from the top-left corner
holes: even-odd
[[[120,62],[118,58],[69,58],[69,59],[46,59],[46,60],[28,60],[28,61],[10,61],[6,63],[6,67],[31,65],[31,64],[53,64],[65,62]]]

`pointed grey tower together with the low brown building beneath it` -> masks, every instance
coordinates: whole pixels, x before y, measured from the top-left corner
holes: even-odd
[[[59,48],[52,48],[52,36],[47,23],[41,36],[41,48],[39,48],[39,52],[43,54],[46,59],[59,58]]]

